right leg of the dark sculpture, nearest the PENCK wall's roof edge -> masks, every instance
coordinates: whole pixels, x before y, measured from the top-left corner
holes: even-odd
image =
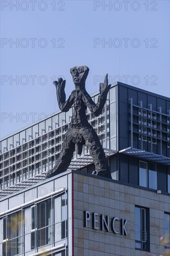
[[[95,171],[92,174],[111,178],[108,162],[105,158],[105,152],[102,148],[97,133],[93,128],[84,128],[83,137],[90,154],[93,157]]]

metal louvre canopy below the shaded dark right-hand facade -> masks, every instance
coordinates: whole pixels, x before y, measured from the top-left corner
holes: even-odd
[[[170,157],[166,157],[163,155],[157,155],[145,150],[137,149],[137,148],[124,148],[119,151],[119,153],[123,153],[125,155],[131,155],[143,160],[162,163],[164,165],[170,166]]]

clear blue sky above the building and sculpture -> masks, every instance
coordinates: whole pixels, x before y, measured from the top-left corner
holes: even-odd
[[[122,82],[170,97],[169,0],[1,0],[0,21],[0,137],[57,111],[52,77],[65,77],[68,97],[77,65],[90,68],[89,94],[108,73],[111,83],[120,74]]]

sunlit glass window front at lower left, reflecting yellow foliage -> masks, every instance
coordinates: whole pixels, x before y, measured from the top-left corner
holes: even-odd
[[[67,194],[26,205],[3,216],[0,224],[3,227],[0,255],[31,255],[41,247],[55,247],[67,239]],[[65,249],[59,255],[65,255]]]

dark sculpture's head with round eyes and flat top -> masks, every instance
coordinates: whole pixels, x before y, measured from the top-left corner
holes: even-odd
[[[85,80],[89,73],[89,68],[86,66],[76,66],[70,69],[72,79],[76,88],[85,88]]]

